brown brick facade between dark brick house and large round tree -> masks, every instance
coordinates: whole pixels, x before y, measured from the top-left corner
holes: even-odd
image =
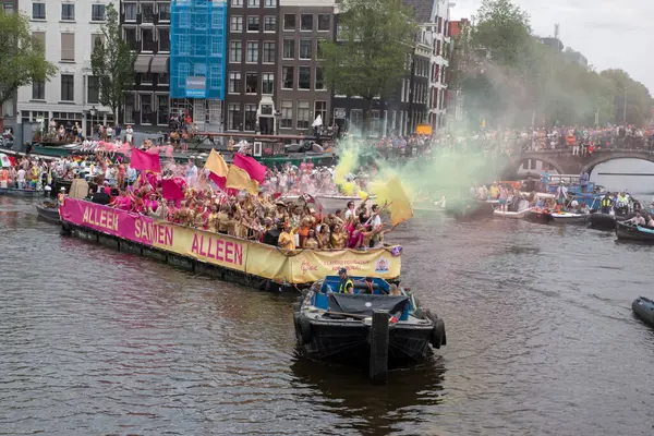
[[[313,134],[331,122],[331,94],[320,66],[320,44],[334,38],[332,0],[280,0],[277,102],[280,134]]]

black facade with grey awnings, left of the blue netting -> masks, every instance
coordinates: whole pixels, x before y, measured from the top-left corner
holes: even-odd
[[[120,5],[123,39],[137,52],[134,87],[125,93],[119,123],[138,131],[168,126],[170,108],[170,0],[128,0]]]

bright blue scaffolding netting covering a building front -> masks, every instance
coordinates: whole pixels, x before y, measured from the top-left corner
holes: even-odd
[[[173,0],[170,96],[225,99],[227,2]]]

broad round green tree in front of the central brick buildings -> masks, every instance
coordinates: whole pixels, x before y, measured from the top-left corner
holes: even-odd
[[[414,14],[401,0],[343,0],[338,40],[320,45],[325,82],[337,94],[387,99],[407,74],[413,52]]]

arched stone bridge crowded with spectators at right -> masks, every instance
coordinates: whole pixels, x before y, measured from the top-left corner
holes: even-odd
[[[614,159],[642,159],[654,162],[654,150],[611,148],[595,150],[586,156],[572,156],[572,152],[568,149],[522,152],[519,156],[512,156],[511,161],[507,161],[501,175],[516,177],[520,166],[529,159],[540,160],[559,174],[579,174],[581,171],[591,173],[597,165]]]

